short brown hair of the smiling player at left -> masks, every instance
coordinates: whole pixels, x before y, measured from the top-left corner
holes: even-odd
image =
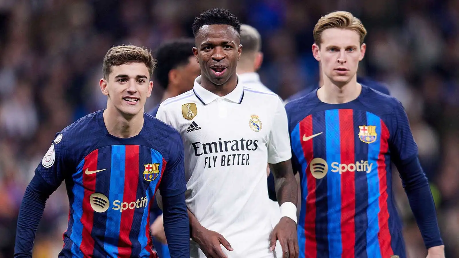
[[[156,60],[151,56],[150,50],[136,45],[112,46],[107,51],[102,63],[104,78],[108,79],[108,75],[112,72],[112,66],[120,66],[132,62],[144,63],[151,78],[156,67]]]

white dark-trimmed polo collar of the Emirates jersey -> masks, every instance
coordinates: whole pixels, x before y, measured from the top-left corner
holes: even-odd
[[[213,92],[210,92],[206,89],[204,89],[201,86],[201,76],[199,75],[195,79],[195,84],[193,85],[193,92],[195,93],[196,97],[202,102],[202,104],[207,105],[210,102],[216,100],[219,96],[217,94],[214,94]],[[239,76],[237,76],[237,85],[234,90],[232,90],[230,93],[227,95],[224,95],[223,98],[241,104],[242,98],[244,97],[244,86],[242,86],[241,80],[239,79]]]

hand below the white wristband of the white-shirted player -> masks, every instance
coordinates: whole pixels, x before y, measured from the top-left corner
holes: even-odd
[[[280,218],[279,223],[274,227],[269,236],[269,251],[276,247],[276,239],[282,247],[282,258],[297,258],[299,255],[297,225],[293,219],[288,217]]]

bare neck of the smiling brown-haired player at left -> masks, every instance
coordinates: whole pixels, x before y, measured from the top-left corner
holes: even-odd
[[[138,135],[144,124],[143,109],[134,116],[123,116],[115,107],[104,110],[104,123],[109,134],[119,138]]]

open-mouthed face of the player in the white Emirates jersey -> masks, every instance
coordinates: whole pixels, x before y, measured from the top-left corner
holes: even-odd
[[[193,53],[201,67],[202,79],[222,85],[236,76],[241,57],[239,34],[231,25],[204,25],[195,37]]]

